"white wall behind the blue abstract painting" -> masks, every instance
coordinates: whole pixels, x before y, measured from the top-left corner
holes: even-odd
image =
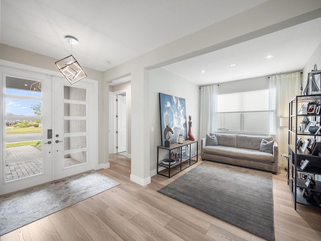
[[[159,93],[174,95],[186,101],[186,118],[192,116],[192,134],[199,136],[199,86],[163,68],[149,72],[150,175],[156,174],[157,146],[162,145]],[[188,123],[187,123],[188,127]],[[153,132],[151,132],[151,128]]]

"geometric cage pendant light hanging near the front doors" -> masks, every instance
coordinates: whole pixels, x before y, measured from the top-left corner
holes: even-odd
[[[60,73],[69,81],[70,84],[74,84],[79,80],[86,78],[84,70],[79,65],[78,61],[72,56],[72,45],[78,44],[78,40],[72,36],[66,36],[66,41],[71,44],[71,55],[63,58],[55,64],[57,65]]]

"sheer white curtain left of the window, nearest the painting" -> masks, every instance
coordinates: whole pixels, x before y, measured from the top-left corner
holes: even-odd
[[[201,87],[200,139],[216,132],[218,85]]]

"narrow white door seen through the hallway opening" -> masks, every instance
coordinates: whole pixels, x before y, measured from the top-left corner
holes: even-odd
[[[117,95],[117,153],[126,149],[126,96]]]

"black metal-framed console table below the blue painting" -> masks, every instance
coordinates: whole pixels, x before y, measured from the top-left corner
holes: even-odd
[[[198,162],[198,141],[157,147],[157,174],[171,178]]]

